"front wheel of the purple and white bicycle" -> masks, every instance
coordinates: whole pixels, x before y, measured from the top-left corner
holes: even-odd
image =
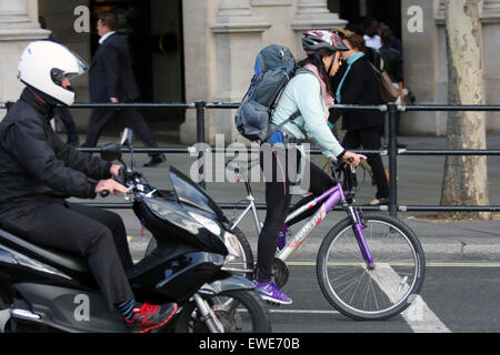
[[[387,320],[404,311],[423,283],[426,258],[413,231],[389,215],[366,214],[362,231],[374,267],[367,266],[350,219],[327,234],[318,253],[321,291],[354,320]]]

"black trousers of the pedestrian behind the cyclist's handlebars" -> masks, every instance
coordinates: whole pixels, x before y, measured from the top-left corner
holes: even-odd
[[[378,126],[367,128],[357,131],[348,131],[343,138],[342,146],[346,149],[358,149],[363,146],[366,150],[380,149],[380,133]],[[368,164],[373,172],[373,179],[377,185],[377,199],[389,197],[389,184],[386,178],[382,158],[379,154],[367,154]]]

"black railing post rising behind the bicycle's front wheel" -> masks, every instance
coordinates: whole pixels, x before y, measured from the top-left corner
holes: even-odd
[[[396,103],[389,103],[389,213],[393,217],[398,216],[398,152],[396,146],[397,115],[398,105]]]

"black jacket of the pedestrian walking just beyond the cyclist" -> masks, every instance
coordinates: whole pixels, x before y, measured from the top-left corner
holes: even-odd
[[[344,64],[347,67],[347,64]],[[357,60],[349,71],[340,90],[341,104],[373,105],[382,104],[379,84],[373,68],[367,57]],[[383,114],[374,111],[347,111],[333,106],[329,121],[333,124],[343,115],[343,129],[356,131],[383,124]]]

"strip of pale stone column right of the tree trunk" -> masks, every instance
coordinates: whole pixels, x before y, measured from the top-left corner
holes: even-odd
[[[498,102],[500,91],[500,0],[484,0],[481,9],[483,64],[484,64],[484,103]],[[500,133],[500,112],[487,112],[487,131]]]

